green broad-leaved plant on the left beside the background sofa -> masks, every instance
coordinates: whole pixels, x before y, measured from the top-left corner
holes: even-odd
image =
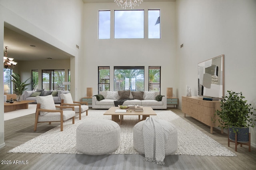
[[[20,81],[20,75],[17,73],[12,73],[12,82],[15,84],[15,88],[13,89],[17,94],[17,101],[21,101],[21,95],[22,93],[27,89],[26,86],[30,85],[26,84],[26,82],[31,78],[28,78],[25,82]]]

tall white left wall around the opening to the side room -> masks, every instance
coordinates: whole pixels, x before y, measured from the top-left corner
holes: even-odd
[[[78,60],[82,55],[76,44],[82,46],[82,0],[1,0],[0,1],[0,53],[4,54],[4,22],[70,54],[72,95],[78,98]],[[76,73],[76,74],[75,74]],[[0,70],[0,88],[3,71]],[[0,90],[0,95],[3,92]],[[4,107],[0,98],[0,148],[4,146]]]

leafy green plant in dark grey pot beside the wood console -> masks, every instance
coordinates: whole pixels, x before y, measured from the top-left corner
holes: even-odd
[[[254,127],[256,121],[252,104],[246,103],[247,100],[244,100],[242,92],[229,90],[227,92],[228,94],[220,102],[222,110],[216,110],[216,114],[220,117],[218,120],[220,126],[228,128],[230,140],[235,140],[235,134],[237,134],[238,142],[248,142],[249,127]]]

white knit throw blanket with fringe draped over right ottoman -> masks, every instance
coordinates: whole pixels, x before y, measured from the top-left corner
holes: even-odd
[[[147,117],[143,124],[145,160],[164,165],[164,146],[168,140],[168,130],[157,119]]]

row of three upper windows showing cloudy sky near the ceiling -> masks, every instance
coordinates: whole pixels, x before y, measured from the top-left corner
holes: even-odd
[[[114,18],[115,39],[145,38],[144,10],[100,10],[98,14],[98,39],[110,39],[110,21]],[[148,35],[146,38],[161,38],[160,10],[148,10]]]

